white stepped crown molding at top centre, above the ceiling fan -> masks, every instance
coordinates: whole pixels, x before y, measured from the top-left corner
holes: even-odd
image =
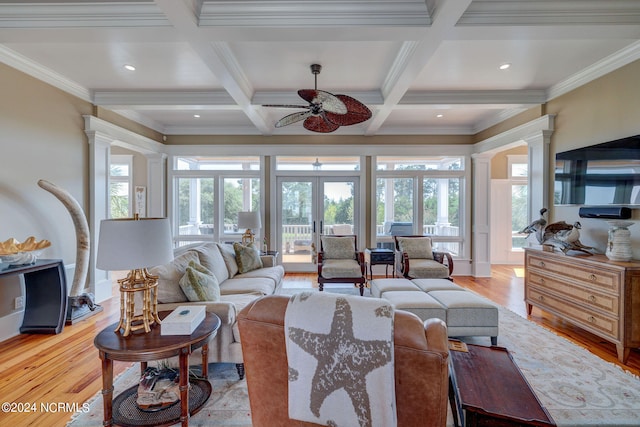
[[[205,0],[200,27],[306,27],[431,25],[424,0]]]

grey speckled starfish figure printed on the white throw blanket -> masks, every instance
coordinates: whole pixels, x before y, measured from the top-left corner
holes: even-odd
[[[361,427],[371,426],[371,407],[366,376],[391,361],[391,341],[365,341],[353,335],[353,313],[345,298],[336,299],[336,310],[328,334],[289,328],[289,338],[318,360],[311,386],[311,412],[334,391],[344,389]]]

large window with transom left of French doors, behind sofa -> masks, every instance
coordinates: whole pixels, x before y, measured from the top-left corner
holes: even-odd
[[[260,158],[176,157],[173,165],[177,245],[240,241],[238,212],[260,211]]]

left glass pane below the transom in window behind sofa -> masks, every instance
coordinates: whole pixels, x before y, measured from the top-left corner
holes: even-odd
[[[178,178],[178,234],[213,234],[213,178]]]

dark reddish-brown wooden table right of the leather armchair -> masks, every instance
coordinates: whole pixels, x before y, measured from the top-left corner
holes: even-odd
[[[507,349],[467,347],[468,353],[450,352],[456,426],[555,426]]]

